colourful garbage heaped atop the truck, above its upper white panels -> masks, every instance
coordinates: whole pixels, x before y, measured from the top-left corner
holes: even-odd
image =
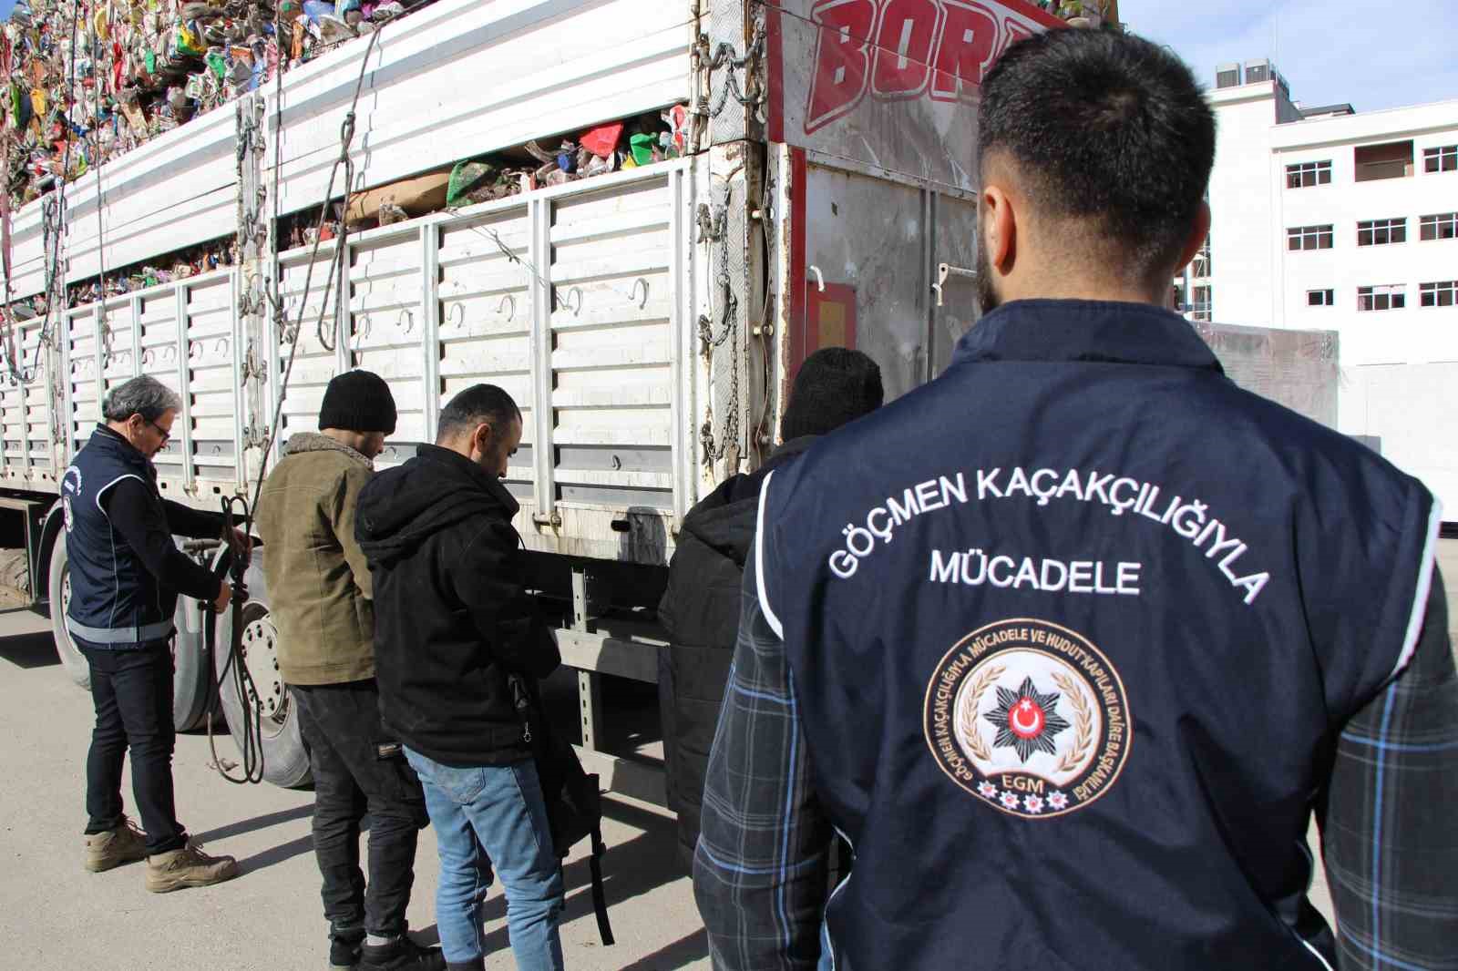
[[[19,0],[0,157],[23,206],[432,0]]]

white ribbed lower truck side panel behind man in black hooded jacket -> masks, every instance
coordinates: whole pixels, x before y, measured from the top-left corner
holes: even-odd
[[[348,238],[344,281],[328,287],[327,243],[308,303],[311,248],[284,254],[281,302],[290,325],[305,318],[296,351],[292,332],[270,344],[276,389],[293,353],[277,448],[316,427],[330,378],[350,367],[385,378],[399,411],[379,467],[432,442],[455,394],[496,383],[522,408],[506,486],[528,547],[666,563],[674,518],[697,500],[700,372],[682,348],[701,168],[665,162],[373,229]]]

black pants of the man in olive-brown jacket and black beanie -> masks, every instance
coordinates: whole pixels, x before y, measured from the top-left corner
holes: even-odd
[[[420,779],[385,738],[375,681],[293,685],[313,768],[313,853],[324,916],[335,932],[405,932],[416,882],[416,837],[430,822]],[[381,752],[381,746],[386,752]],[[369,814],[369,884],[360,872],[360,821]]]

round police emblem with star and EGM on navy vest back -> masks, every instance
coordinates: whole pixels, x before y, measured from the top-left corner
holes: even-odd
[[[926,690],[926,741],[942,771],[1028,819],[1092,803],[1134,739],[1124,684],[1086,637],[1005,620],[956,643]]]

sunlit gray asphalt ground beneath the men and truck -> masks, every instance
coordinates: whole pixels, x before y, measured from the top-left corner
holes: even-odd
[[[1458,541],[1441,544],[1449,625],[1458,643]],[[207,738],[178,739],[178,814],[242,875],[220,886],[153,895],[143,865],[82,869],[85,758],[90,697],[67,678],[50,621],[0,612],[0,968],[26,971],[280,971],[327,965],[319,878],[309,837],[312,793],[232,786],[208,768]],[[230,741],[222,752],[236,758]],[[131,805],[130,780],[124,783]],[[672,818],[608,798],[607,889],[618,943],[598,942],[582,849],[567,862],[563,949],[574,970],[707,968],[688,878],[677,867]],[[1319,853],[1317,854],[1319,859]],[[410,923],[436,940],[437,862],[421,834]],[[1330,914],[1318,867],[1312,900]],[[500,889],[487,901],[488,968],[515,967]]]

